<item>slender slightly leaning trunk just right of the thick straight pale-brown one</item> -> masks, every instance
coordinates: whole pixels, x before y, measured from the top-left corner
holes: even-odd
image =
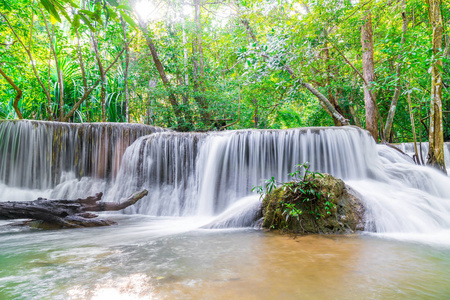
[[[408,30],[408,19],[406,18],[406,2],[405,0],[402,1],[402,20],[403,20],[403,26],[402,26],[402,39],[400,41],[400,51],[403,50],[403,45],[406,41],[406,31]],[[400,53],[397,58],[397,68],[396,68],[396,75],[397,75],[397,84],[395,86],[394,96],[392,97],[391,106],[389,108],[388,117],[386,119],[386,125],[384,127],[384,137],[386,139],[389,138],[391,135],[391,129],[392,125],[394,123],[394,115],[395,110],[397,108],[398,98],[400,97],[401,92],[401,82],[400,82],[400,76],[402,71],[402,54]]]

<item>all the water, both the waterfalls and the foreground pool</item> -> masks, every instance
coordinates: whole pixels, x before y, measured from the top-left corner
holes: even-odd
[[[252,186],[287,181],[306,161],[359,194],[363,232],[258,229]],[[445,299],[449,187],[355,127],[175,133],[3,121],[0,201],[149,195],[104,216],[116,226],[0,226],[0,299]]]

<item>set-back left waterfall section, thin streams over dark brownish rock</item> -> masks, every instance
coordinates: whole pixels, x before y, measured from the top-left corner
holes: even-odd
[[[129,145],[162,130],[121,123],[1,121],[0,182],[18,190],[47,190],[68,179],[111,180]]]

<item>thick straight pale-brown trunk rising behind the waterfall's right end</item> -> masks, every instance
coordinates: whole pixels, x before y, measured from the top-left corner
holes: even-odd
[[[366,11],[363,18],[364,24],[361,27],[361,46],[363,49],[363,74],[365,82],[369,85],[375,81],[373,62],[373,37],[372,37],[372,16],[370,10]],[[371,98],[373,96],[373,99]],[[374,102],[375,95],[371,95],[370,86],[364,84],[364,102],[366,107],[366,129],[370,132],[375,141],[378,141],[377,114]]]

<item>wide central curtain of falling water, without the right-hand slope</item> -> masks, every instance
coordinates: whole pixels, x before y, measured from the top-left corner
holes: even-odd
[[[306,161],[341,178],[377,177],[370,159],[374,146],[364,131],[351,127],[155,133],[127,149],[107,197],[146,188],[148,200],[129,213],[212,216],[265,178],[288,180]]]

